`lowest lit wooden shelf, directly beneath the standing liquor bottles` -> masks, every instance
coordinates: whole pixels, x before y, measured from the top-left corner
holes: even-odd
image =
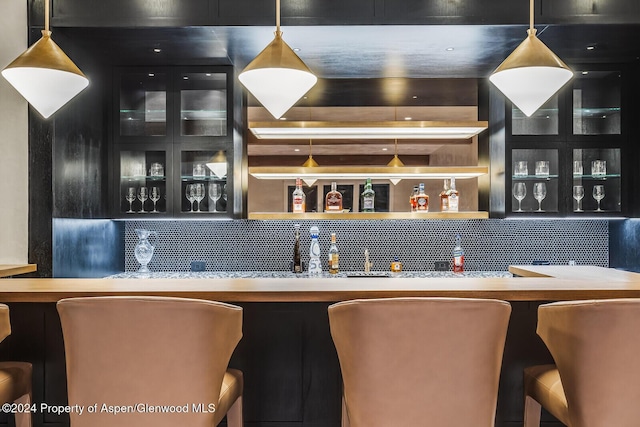
[[[255,220],[377,220],[377,219],[487,219],[488,212],[342,212],[342,213],[291,213],[291,212],[250,212],[249,219]]]

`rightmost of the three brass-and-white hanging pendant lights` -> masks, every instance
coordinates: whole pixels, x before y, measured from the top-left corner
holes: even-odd
[[[527,34],[529,36],[496,68],[489,80],[529,117],[573,77],[573,72],[536,37],[533,0],[530,0]]]

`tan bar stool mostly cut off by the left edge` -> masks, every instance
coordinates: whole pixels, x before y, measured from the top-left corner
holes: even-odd
[[[11,335],[9,307],[0,304],[0,342]],[[0,362],[0,405],[31,405],[32,366],[27,362]],[[31,427],[31,412],[15,413],[16,427]]]

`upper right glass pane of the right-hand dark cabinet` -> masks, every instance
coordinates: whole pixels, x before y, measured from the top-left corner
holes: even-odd
[[[577,71],[573,82],[573,134],[619,135],[619,71]]]

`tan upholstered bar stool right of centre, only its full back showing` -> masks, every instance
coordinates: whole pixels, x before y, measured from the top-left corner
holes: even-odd
[[[493,427],[511,306],[454,298],[329,307],[342,425]]]

